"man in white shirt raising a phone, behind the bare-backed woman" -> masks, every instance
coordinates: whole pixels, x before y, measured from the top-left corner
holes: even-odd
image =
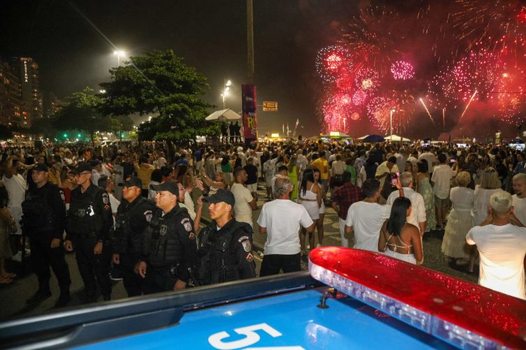
[[[423,197],[418,192],[413,190],[413,175],[406,171],[400,174],[398,179],[402,185],[404,191],[404,197],[411,200],[411,214],[407,217],[407,222],[418,227],[420,235],[423,235],[424,228],[426,227],[426,205],[423,202]],[[400,191],[393,191],[387,198],[387,205],[393,205],[396,198],[400,197]]]

